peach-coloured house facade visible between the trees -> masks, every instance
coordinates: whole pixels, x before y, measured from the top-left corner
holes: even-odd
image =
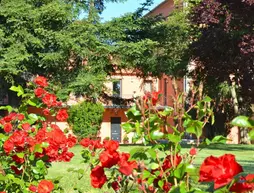
[[[167,17],[174,9],[173,0],[162,1],[146,16],[162,15]],[[113,96],[111,101],[104,104],[105,111],[103,114],[103,122],[101,125],[100,137],[111,138],[120,143],[124,142],[126,134],[121,129],[121,124],[127,121],[125,112],[133,105],[133,102],[126,104],[119,104],[114,101],[114,96],[121,99],[130,100],[138,96],[145,95],[146,92],[160,91],[161,99],[160,106],[172,106],[172,96],[174,96],[174,88],[172,78],[162,75],[160,78],[140,78],[135,72],[121,72],[111,76],[112,82],[106,83],[109,95]],[[179,91],[186,88],[184,79],[177,80],[177,87]],[[132,135],[128,135],[129,143],[131,143]]]

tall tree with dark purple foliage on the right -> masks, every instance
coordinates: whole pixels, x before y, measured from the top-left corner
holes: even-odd
[[[203,0],[190,20],[200,32],[191,46],[194,77],[220,99],[228,90],[224,104],[231,101],[235,113],[246,112],[254,102],[254,1]]]

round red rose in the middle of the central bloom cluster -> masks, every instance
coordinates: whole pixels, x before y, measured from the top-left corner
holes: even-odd
[[[100,154],[100,162],[102,167],[105,168],[111,168],[113,165],[116,165],[119,161],[119,154],[118,152],[109,152],[109,151],[103,151]]]

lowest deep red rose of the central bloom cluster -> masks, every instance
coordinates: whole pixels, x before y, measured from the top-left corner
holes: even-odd
[[[91,185],[94,188],[101,188],[107,181],[107,177],[104,173],[104,169],[101,166],[96,166],[92,169],[91,174]]]

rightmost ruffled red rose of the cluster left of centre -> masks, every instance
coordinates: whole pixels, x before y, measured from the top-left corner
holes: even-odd
[[[119,172],[121,172],[126,176],[131,175],[133,170],[138,168],[136,161],[128,161],[129,157],[130,157],[129,153],[122,153],[120,161],[118,162]]]

